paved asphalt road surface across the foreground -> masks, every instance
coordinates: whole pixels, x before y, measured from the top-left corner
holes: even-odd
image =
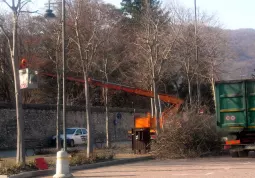
[[[84,178],[251,178],[254,158],[215,157],[180,160],[150,160],[73,172]],[[48,176],[50,178],[52,176]]]

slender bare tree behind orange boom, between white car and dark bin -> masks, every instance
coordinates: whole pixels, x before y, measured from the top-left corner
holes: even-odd
[[[109,78],[113,73],[118,73],[119,77],[121,73],[119,68],[123,67],[127,60],[122,58],[122,51],[117,50],[122,47],[121,34],[119,33],[118,22],[122,18],[121,13],[114,7],[110,5],[102,6],[102,13],[104,13],[104,18],[102,19],[103,26],[105,28],[102,30],[101,39],[103,41],[101,47],[99,48],[98,60],[93,64],[95,69],[102,74],[103,80],[109,82]],[[116,78],[115,78],[116,79]],[[103,88],[103,97],[105,104],[105,130],[106,130],[106,147],[110,147],[110,137],[109,137],[109,103],[110,98],[108,94],[108,88]]]

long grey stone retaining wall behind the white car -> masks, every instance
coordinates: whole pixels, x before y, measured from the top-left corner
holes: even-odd
[[[55,135],[56,107],[50,105],[24,105],[25,138],[42,140],[47,146],[48,139]],[[136,111],[144,115],[145,110]],[[121,119],[117,119],[117,113]],[[109,114],[110,138],[114,141],[127,140],[128,130],[134,125],[134,110],[128,108],[111,108]],[[86,127],[83,107],[67,107],[67,127]],[[62,127],[61,127],[62,128]],[[94,138],[105,134],[105,112],[103,107],[92,108],[92,130]],[[0,149],[16,147],[17,124],[15,109],[11,104],[0,104]]]

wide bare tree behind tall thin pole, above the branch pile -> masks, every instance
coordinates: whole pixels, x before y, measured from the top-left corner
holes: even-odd
[[[224,56],[224,54],[220,52],[220,48],[225,49],[222,46],[223,42],[220,42],[220,40],[224,38],[220,35],[221,30],[218,29],[218,22],[215,21],[214,16],[210,16],[206,13],[199,13],[196,27],[191,23],[193,21],[192,11],[176,5],[173,5],[171,8],[173,10],[173,17],[181,29],[175,46],[174,58],[187,83],[188,101],[191,105],[194,103],[195,99],[194,87],[196,86],[197,97],[201,97],[200,84],[203,82],[207,83],[208,75],[211,76],[210,78],[212,79],[212,75],[215,75],[215,70],[218,70],[216,68],[219,67],[219,62],[216,62],[217,64],[213,63],[219,56]],[[194,31],[196,31],[195,34]],[[215,43],[219,42],[222,45],[215,45]],[[216,51],[220,53],[216,55]],[[199,60],[197,60],[197,58],[199,58]],[[212,59],[214,59],[214,62]],[[217,65],[218,67],[216,67]],[[213,78],[215,78],[215,76]],[[197,79],[199,79],[199,81]],[[212,83],[214,82],[212,81]],[[198,100],[199,104],[201,104],[202,100]]]

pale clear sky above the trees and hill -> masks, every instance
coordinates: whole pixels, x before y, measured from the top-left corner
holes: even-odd
[[[40,13],[45,11],[45,3],[48,0],[32,0],[33,9],[39,9]],[[52,0],[53,1],[53,0]],[[121,0],[104,0],[120,6]],[[172,0],[163,0],[164,4]],[[186,7],[193,8],[194,0],[175,0]],[[254,28],[255,29],[255,0],[197,0],[200,10],[209,14],[215,14],[223,28]]]

